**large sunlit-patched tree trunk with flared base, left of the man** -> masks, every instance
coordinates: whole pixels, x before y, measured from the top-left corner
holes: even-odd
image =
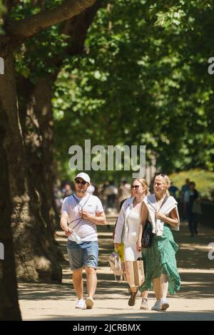
[[[4,61],[5,74],[0,77],[0,101],[4,120],[7,120],[4,148],[13,205],[11,222],[17,277],[34,282],[61,282],[62,273],[56,258],[56,246],[46,230],[36,193],[29,182],[29,168],[16,101],[12,51],[6,52]]]

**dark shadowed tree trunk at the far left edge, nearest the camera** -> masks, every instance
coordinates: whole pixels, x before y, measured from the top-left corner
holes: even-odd
[[[0,81],[2,76],[0,75]],[[18,304],[14,245],[11,232],[11,202],[9,195],[9,175],[6,163],[4,140],[6,135],[4,118],[0,104],[0,242],[4,249],[4,259],[0,259],[0,321],[21,320]]]

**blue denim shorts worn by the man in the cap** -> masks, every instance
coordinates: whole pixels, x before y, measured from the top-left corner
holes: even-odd
[[[71,270],[77,270],[81,267],[97,268],[98,241],[89,241],[77,244],[76,242],[68,239],[67,251]]]

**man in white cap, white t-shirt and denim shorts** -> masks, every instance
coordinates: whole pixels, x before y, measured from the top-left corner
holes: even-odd
[[[105,225],[106,216],[101,200],[90,195],[87,188],[89,175],[78,173],[75,180],[76,193],[66,197],[61,208],[61,228],[68,237],[68,259],[73,271],[73,286],[78,297],[76,308],[91,309],[96,291],[98,266],[98,234],[96,225]],[[83,267],[86,270],[87,295],[83,299]]]

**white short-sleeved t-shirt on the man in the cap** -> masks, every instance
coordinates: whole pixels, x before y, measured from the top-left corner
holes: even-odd
[[[78,202],[76,202],[74,197],[76,197]],[[73,229],[73,231],[81,237],[83,242],[97,241],[98,235],[96,224],[81,218],[79,211],[86,210],[86,212],[90,215],[96,217],[98,212],[103,212],[101,200],[99,200],[95,195],[88,195],[88,193],[86,193],[84,197],[77,197],[76,195],[74,195],[74,197],[73,195],[66,197],[61,207],[61,212],[66,212],[68,214],[68,227]],[[68,237],[68,239],[74,241],[72,234]]]

